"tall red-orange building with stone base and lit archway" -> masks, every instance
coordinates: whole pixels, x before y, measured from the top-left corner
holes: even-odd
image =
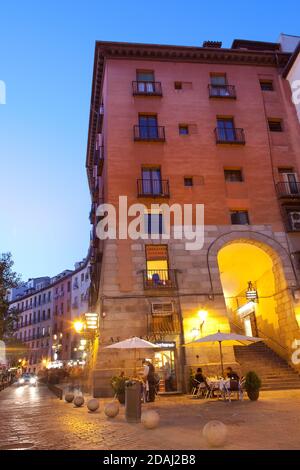
[[[218,345],[183,346],[218,330],[264,337],[291,362],[300,339],[300,127],[283,76],[291,56],[279,42],[96,43],[86,162],[95,396],[111,394],[112,375],[133,373],[132,352],[105,349],[131,336],[156,343],[139,357],[171,375],[166,391],[185,390],[190,367],[220,373]],[[156,239],[98,239],[98,205],[118,214],[121,195],[146,206],[144,233]],[[174,236],[174,218],[163,239],[153,203],[204,204],[203,248]],[[231,346],[224,363],[236,366]]]

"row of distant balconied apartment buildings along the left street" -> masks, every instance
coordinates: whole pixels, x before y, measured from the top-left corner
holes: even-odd
[[[74,321],[88,311],[88,258],[53,278],[30,279],[9,294],[10,309],[17,309],[15,336],[27,347],[20,358],[24,369],[38,372],[51,364],[81,359],[80,336]]]

